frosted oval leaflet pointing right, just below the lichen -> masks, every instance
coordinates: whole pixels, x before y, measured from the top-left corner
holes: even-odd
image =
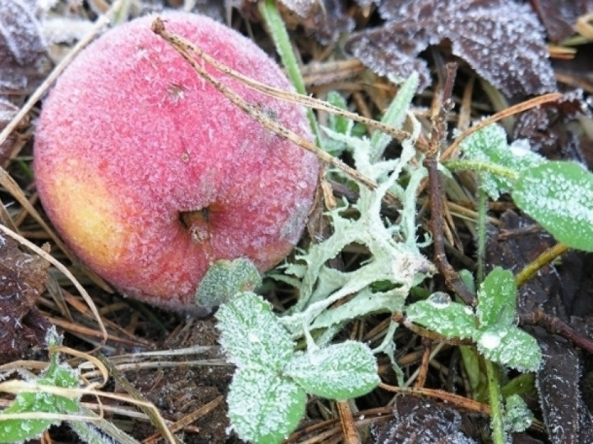
[[[356,341],[297,352],[284,372],[308,393],[327,399],[366,395],[380,383],[373,352]]]

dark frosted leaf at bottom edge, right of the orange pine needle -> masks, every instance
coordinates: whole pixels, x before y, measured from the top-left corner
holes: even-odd
[[[398,397],[393,419],[373,427],[376,444],[474,444],[461,431],[461,415],[432,399]]]

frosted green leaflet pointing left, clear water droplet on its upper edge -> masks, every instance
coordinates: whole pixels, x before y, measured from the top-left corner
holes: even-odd
[[[448,294],[437,292],[427,300],[406,308],[407,319],[447,338],[466,339],[476,335],[476,315],[471,307],[454,303]]]

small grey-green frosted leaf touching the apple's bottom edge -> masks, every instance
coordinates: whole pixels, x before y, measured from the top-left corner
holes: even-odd
[[[213,263],[195,292],[202,307],[218,307],[241,291],[253,291],[262,284],[259,270],[249,259],[221,259]]]

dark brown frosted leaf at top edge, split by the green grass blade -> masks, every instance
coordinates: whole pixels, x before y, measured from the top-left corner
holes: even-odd
[[[326,45],[338,40],[340,33],[354,28],[354,20],[345,13],[343,3],[340,0],[280,0],[278,9],[287,27],[303,26],[307,33]],[[226,0],[226,6],[237,8],[248,20],[260,20],[257,1]]]

